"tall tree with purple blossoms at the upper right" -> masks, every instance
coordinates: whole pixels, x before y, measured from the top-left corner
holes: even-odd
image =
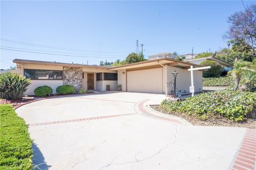
[[[225,38],[251,48],[255,55],[256,45],[256,5],[251,5],[245,11],[236,12],[228,18],[230,24]]]

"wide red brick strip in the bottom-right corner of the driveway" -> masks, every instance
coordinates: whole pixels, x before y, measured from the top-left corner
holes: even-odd
[[[256,129],[247,129],[230,169],[256,169]]]

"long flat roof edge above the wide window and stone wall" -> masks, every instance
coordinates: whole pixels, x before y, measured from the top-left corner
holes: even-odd
[[[62,65],[62,66],[91,67],[91,68],[98,68],[98,69],[108,69],[109,67],[109,66],[101,66],[101,65],[71,64],[71,63],[60,63],[60,62],[36,61],[36,60],[22,60],[22,59],[14,59],[13,63],[50,64],[50,65]]]

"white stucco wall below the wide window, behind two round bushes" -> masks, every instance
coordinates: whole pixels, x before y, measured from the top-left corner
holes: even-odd
[[[63,85],[63,80],[30,80],[31,84],[28,86],[28,90],[25,95],[34,95],[34,90],[39,86],[50,86],[53,90],[53,94],[56,93],[56,88]]]

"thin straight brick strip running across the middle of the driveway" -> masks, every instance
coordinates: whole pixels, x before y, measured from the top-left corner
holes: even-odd
[[[65,120],[65,121],[34,123],[34,124],[29,124],[29,126],[41,126],[41,125],[51,125],[51,124],[60,124],[60,123],[83,122],[83,121],[97,120],[97,119],[102,119],[102,118],[130,116],[130,115],[135,115],[135,114],[138,114],[138,113],[128,113],[128,114],[121,114],[121,115],[108,115],[108,116],[98,116],[98,117],[77,118],[77,119]]]

